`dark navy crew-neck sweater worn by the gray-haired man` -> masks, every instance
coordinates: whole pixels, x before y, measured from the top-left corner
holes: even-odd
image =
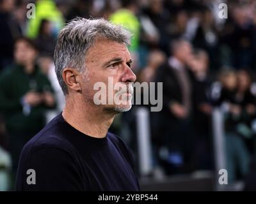
[[[27,183],[29,169],[36,184]],[[16,190],[138,191],[139,185],[131,152],[118,136],[84,135],[60,114],[24,146]]]

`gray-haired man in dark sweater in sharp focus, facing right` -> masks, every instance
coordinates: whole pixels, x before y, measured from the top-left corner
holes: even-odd
[[[60,31],[54,62],[66,105],[22,150],[18,191],[139,190],[131,152],[108,133],[116,113],[131,108],[129,82],[136,76],[129,39],[128,31],[103,19],[77,18]],[[118,94],[109,78],[129,92]],[[98,82],[107,85],[109,101],[122,95],[125,103],[97,105]]]

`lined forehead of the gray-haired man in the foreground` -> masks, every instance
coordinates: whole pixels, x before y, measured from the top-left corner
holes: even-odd
[[[124,43],[100,39],[95,41],[94,45],[89,48],[86,54],[86,61],[93,59],[100,61],[111,57],[121,57],[124,60],[131,59],[131,55]]]

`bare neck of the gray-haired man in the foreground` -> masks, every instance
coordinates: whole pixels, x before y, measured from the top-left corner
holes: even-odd
[[[99,106],[79,100],[79,97],[72,100],[67,96],[62,116],[68,124],[81,133],[95,138],[104,138],[115,113],[104,112]]]

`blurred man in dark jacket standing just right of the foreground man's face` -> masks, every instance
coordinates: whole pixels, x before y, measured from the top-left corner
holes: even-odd
[[[189,149],[193,146],[189,125],[192,91],[187,65],[191,54],[188,41],[174,40],[172,56],[157,70],[156,81],[163,82],[163,111],[159,112],[159,129],[163,130],[163,143],[168,149],[167,156],[162,158],[168,174],[189,171]]]

